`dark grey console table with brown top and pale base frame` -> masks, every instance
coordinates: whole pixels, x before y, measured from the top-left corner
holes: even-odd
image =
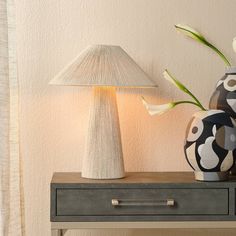
[[[82,228],[236,228],[235,188],[236,179],[196,182],[189,172],[131,172],[116,180],[55,173],[52,235]]]

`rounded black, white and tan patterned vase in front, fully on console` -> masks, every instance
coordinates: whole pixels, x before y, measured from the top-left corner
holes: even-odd
[[[195,113],[186,130],[184,152],[196,180],[226,180],[236,158],[235,120],[222,110]]]

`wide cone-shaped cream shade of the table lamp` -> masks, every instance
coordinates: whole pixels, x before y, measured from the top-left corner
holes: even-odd
[[[50,84],[71,86],[156,87],[120,47],[91,45]]]

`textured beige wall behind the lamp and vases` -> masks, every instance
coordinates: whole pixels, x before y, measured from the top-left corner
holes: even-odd
[[[168,68],[208,103],[224,64],[175,32],[188,23],[236,61],[235,0],[17,0],[21,155],[27,236],[49,236],[49,183],[54,171],[80,171],[90,90],[49,86],[50,79],[90,43],[121,45],[159,88],[123,90],[118,105],[128,171],[187,171],[185,127],[196,108],[150,117],[140,102],[186,96],[162,78]],[[68,235],[231,235],[230,230],[105,230]]]

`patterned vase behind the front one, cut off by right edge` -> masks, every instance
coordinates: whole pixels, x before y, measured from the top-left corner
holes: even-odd
[[[217,82],[209,107],[223,110],[236,119],[236,67],[228,67],[225,75]]]

